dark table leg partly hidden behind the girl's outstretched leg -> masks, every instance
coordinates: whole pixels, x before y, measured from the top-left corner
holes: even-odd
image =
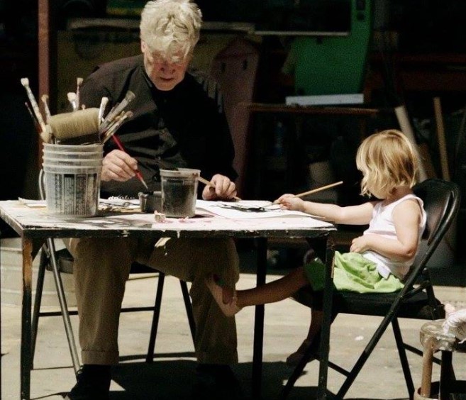
[[[267,239],[257,240],[257,286],[265,284]],[[262,387],[262,345],[264,342],[264,305],[255,306],[253,350],[253,399],[260,399]]]

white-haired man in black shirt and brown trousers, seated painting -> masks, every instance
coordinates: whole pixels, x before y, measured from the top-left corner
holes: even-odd
[[[118,130],[126,152],[112,140],[104,149],[103,196],[137,196],[137,169],[149,189],[157,190],[160,167],[201,170],[213,184],[199,189],[203,199],[236,195],[233,141],[218,94],[204,78],[187,72],[201,22],[201,11],[192,1],[149,1],[140,21],[142,55],[101,65],[84,80],[80,100],[87,107],[99,106],[106,96],[110,109],[128,90],[135,94],[127,108],[133,117]],[[192,282],[198,361],[193,397],[240,396],[229,367],[238,361],[235,320],[223,315],[204,282],[209,273],[231,286],[238,280],[233,240],[172,239],[158,248],[155,241],[78,238],[67,243],[74,257],[84,364],[67,399],[109,399],[111,365],[118,363],[121,301],[134,261]]]

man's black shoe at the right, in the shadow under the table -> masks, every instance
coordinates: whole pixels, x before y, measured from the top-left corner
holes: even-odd
[[[228,365],[199,364],[192,400],[243,400],[240,382]]]

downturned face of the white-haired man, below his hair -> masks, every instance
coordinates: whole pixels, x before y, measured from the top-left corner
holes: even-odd
[[[165,60],[156,52],[150,52],[144,42],[141,43],[141,50],[144,55],[145,72],[157,89],[169,91],[182,82],[191,57],[185,57],[179,62]]]

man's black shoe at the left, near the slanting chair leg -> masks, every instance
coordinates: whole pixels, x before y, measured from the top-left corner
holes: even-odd
[[[83,365],[65,400],[109,400],[110,381],[110,365]]]

